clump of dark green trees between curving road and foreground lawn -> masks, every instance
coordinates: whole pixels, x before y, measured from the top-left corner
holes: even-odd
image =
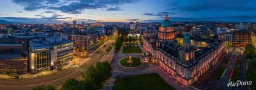
[[[82,74],[83,80],[68,79],[62,85],[62,89],[101,89],[103,88],[103,83],[111,76],[111,71],[112,68],[109,62],[97,62],[95,65],[90,65],[87,71]]]

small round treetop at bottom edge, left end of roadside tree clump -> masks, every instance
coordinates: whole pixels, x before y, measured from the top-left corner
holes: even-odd
[[[76,80],[74,78],[67,79],[62,85],[62,89],[64,90],[80,90],[84,89],[83,82]]]

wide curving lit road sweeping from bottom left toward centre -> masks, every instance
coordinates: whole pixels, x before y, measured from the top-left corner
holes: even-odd
[[[107,41],[107,47],[112,44],[112,41]],[[98,53],[93,53],[89,56],[88,61],[85,64],[81,65],[81,67],[70,67],[64,69],[62,71],[58,71],[58,73],[50,74],[47,76],[36,77],[34,79],[1,79],[0,80],[0,89],[1,90],[12,90],[12,89],[19,89],[19,90],[27,90],[32,89],[36,86],[41,85],[49,85],[52,84],[57,86],[58,88],[65,82],[65,80],[69,78],[78,78],[81,77],[81,74],[86,71],[89,65],[96,64],[104,55],[106,55],[106,48],[101,47],[96,50]],[[106,59],[107,60],[107,59]],[[83,60],[82,60],[83,61]]]

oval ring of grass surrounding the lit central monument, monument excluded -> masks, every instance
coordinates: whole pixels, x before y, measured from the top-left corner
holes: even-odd
[[[120,64],[123,65],[124,67],[137,67],[138,65],[141,65],[140,58],[132,57],[133,63],[131,65],[127,63],[128,59],[129,58],[122,59],[120,61]]]

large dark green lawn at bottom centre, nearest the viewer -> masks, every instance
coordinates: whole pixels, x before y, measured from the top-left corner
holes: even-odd
[[[116,77],[113,90],[174,90],[157,73]]]

